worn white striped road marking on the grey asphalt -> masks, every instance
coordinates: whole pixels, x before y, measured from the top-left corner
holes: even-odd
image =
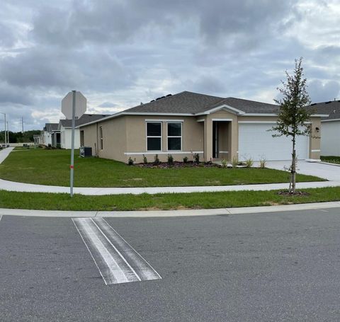
[[[105,219],[72,221],[106,285],[162,278]]]

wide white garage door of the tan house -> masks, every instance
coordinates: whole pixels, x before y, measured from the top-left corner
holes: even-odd
[[[268,131],[274,124],[269,123],[239,123],[239,160],[266,159],[290,160],[292,157],[292,142],[289,137],[273,137]],[[297,159],[308,159],[309,137],[297,137]]]

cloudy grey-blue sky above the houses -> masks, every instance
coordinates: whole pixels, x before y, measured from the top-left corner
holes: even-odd
[[[0,113],[40,130],[74,89],[86,113],[181,91],[273,103],[299,57],[312,102],[334,100],[339,15],[339,0],[1,0]]]

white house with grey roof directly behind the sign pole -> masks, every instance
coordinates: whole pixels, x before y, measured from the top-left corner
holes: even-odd
[[[108,117],[109,115],[102,114],[84,114],[75,122],[74,130],[74,148],[79,149],[81,144],[81,137],[79,134],[79,126],[89,122],[95,122],[103,117]],[[71,149],[72,140],[72,120],[60,120],[58,125],[58,130],[60,131],[60,145],[62,149]]]

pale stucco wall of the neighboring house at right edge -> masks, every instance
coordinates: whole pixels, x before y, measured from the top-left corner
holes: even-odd
[[[340,156],[340,121],[321,123],[321,155]]]

